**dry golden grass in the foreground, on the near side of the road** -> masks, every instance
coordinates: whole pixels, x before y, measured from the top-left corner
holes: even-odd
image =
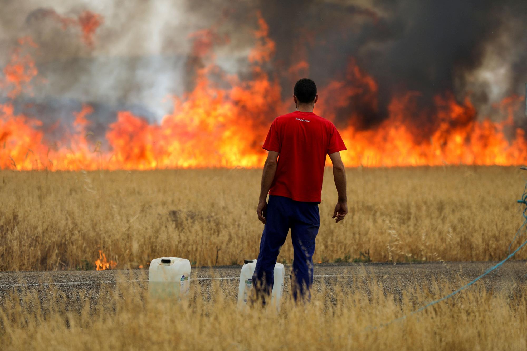
[[[3,349],[504,349],[527,348],[527,288],[489,292],[474,286],[406,319],[426,302],[452,291],[446,285],[413,286],[384,294],[375,282],[348,290],[336,284],[314,292],[313,301],[241,314],[231,293],[194,281],[190,301],[150,300],[138,284],[104,288],[95,298],[79,292],[66,301],[50,289],[13,293],[0,304]],[[210,299],[207,298],[210,292]],[[512,297],[511,297],[512,296]],[[90,302],[91,301],[91,302]]]

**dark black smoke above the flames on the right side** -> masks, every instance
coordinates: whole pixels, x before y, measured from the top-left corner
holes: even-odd
[[[359,110],[359,124],[374,126],[386,118],[389,99],[407,90],[421,92],[423,106],[445,91],[460,101],[471,94],[487,117],[492,117],[486,115],[492,104],[523,94],[527,11],[522,2],[287,3],[287,8],[262,5],[277,42],[277,60],[285,66],[308,61],[309,75],[320,85],[341,79],[354,57],[378,83],[377,111],[350,101],[337,114],[340,119]]]

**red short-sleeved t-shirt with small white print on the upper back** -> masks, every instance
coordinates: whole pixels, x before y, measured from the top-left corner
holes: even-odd
[[[264,149],[280,153],[269,194],[320,202],[326,155],[346,146],[333,123],[313,112],[295,111],[272,122]]]

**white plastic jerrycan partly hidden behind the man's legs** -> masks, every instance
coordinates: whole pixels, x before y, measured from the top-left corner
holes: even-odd
[[[238,308],[240,310],[247,310],[247,299],[249,297],[252,286],[252,275],[255,273],[256,260],[245,260],[240,273],[240,286],[238,288]],[[284,265],[277,262],[275,265],[275,283],[272,286],[271,305],[276,306],[276,310],[280,311],[280,300],[284,294]]]

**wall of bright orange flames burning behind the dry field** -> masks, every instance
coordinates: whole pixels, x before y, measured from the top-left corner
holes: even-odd
[[[98,17],[96,17],[98,18]],[[95,28],[98,19],[86,14],[86,28]],[[96,24],[96,25],[95,25]],[[213,63],[212,46],[228,38],[214,29],[202,30],[190,38],[192,51],[209,58],[196,67],[194,88],[173,98],[173,110],[160,123],[149,123],[129,111],[120,111],[105,135],[109,151],[93,140],[86,118],[93,109],[84,105],[75,114],[73,132],[50,142],[43,123],[15,114],[12,102],[0,104],[0,168],[15,170],[94,170],[207,167],[261,167],[265,151],[261,144],[270,121],[290,111],[282,100],[277,77],[261,67],[275,51],[268,38],[268,26],[258,14],[255,47],[248,54],[251,79],[222,73]],[[86,33],[93,33],[87,30]],[[34,47],[25,38],[14,50],[4,69],[0,87],[14,98],[30,89],[37,71],[24,47]],[[300,62],[287,71],[308,72]],[[215,79],[211,80],[210,75]],[[218,82],[218,77],[221,83]],[[315,112],[334,121],[347,145],[342,158],[348,167],[395,167],[414,165],[480,164],[512,165],[527,163],[527,140],[523,129],[515,128],[513,115],[523,98],[512,95],[493,106],[495,115],[478,120],[467,96],[462,102],[453,94],[435,96],[432,106],[423,109],[415,91],[395,94],[388,104],[387,118],[378,125],[365,126],[363,113],[377,113],[378,84],[372,76],[350,60],[339,79],[319,89]],[[348,106],[360,106],[341,115]],[[344,117],[344,118],[343,118]],[[491,120],[501,120],[496,122]],[[342,122],[346,121],[345,125]]]

